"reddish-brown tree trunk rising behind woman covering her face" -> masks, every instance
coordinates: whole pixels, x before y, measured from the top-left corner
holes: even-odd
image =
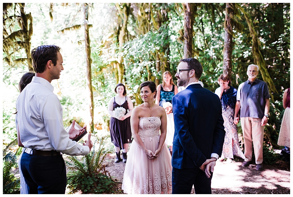
[[[223,62],[223,73],[227,74],[231,79],[232,73],[232,45],[233,45],[233,13],[235,3],[226,3],[226,16],[225,16],[225,37],[224,37],[224,62]]]

